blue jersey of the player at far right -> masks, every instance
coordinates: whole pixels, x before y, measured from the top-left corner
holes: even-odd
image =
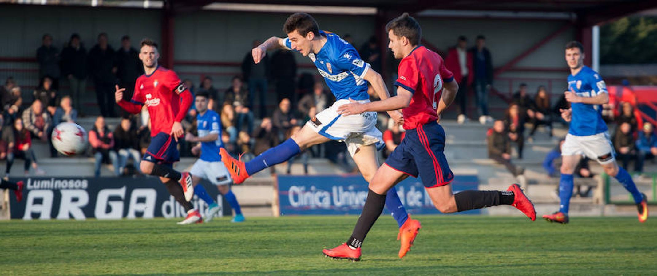
[[[595,97],[606,93],[607,87],[600,75],[593,69],[583,66],[577,75],[568,75],[568,90],[580,97]],[[589,136],[607,131],[602,120],[602,106],[599,104],[570,103],[572,121],[568,133],[575,136]]]

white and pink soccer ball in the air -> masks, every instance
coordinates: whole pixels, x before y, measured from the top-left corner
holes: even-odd
[[[87,147],[87,132],[75,123],[60,123],[51,136],[53,146],[64,155],[83,153]]]

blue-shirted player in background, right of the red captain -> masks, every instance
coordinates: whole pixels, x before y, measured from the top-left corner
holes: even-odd
[[[221,120],[215,111],[208,109],[208,102],[207,93],[198,92],[196,94],[194,106],[196,106],[196,111],[198,111],[198,115],[196,115],[198,137],[191,133],[187,133],[185,136],[187,142],[200,142],[192,149],[193,151],[200,151],[200,158],[190,170],[194,185],[194,194],[208,203],[209,210],[205,218],[203,218],[204,222],[210,222],[221,210],[221,207],[208,195],[208,192],[202,185],[198,185],[198,182],[202,178],[216,185],[219,193],[233,207],[235,217],[232,222],[244,222],[240,204],[237,202],[233,191],[231,191],[230,184],[233,181],[228,170],[221,163],[221,155],[219,155],[219,148],[223,146],[221,143]]]

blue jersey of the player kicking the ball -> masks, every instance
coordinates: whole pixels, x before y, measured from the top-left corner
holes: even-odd
[[[317,71],[324,77],[328,89],[336,100],[367,100],[367,81],[363,79],[370,65],[361,60],[356,49],[338,35],[326,31],[319,33],[327,38],[327,43],[317,54],[308,54],[317,66]],[[285,46],[292,49],[290,39],[285,39]]]

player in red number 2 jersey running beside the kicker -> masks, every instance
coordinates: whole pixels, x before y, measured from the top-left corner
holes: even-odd
[[[360,260],[361,245],[367,232],[381,214],[386,191],[406,175],[422,178],[422,184],[432,202],[443,213],[461,212],[496,205],[512,205],[536,219],[532,202],[518,184],[507,191],[461,191],[453,194],[451,181],[454,175],[443,154],[445,132],[438,125],[438,115],[453,102],[459,85],[452,73],[445,68],[443,59],[419,46],[422,32],[415,18],[407,13],[386,25],[395,58],[401,59],[395,85],[397,96],[359,104],[353,102],[338,109],[344,115],[357,115],[365,111],[386,111],[403,108],[403,127],[406,136],[390,154],[386,163],[374,174],[363,212],[353,229],[350,239],[323,253],[332,258]]]

